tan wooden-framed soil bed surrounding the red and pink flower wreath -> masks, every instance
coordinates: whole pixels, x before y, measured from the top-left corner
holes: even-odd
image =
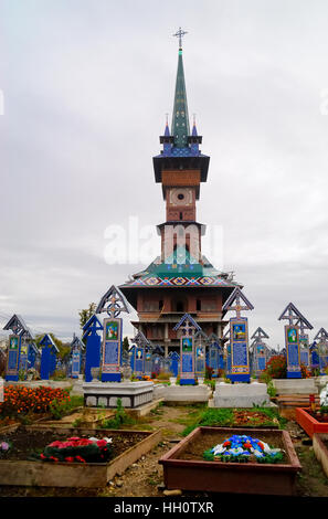
[[[56,462],[32,460],[44,453],[53,442],[67,438],[109,438],[110,457],[106,463],[86,463],[81,459]],[[85,428],[40,430],[33,426],[18,427],[1,435],[0,444],[10,445],[1,452],[0,485],[43,487],[103,487],[116,474],[124,470],[160,441],[160,432],[112,431]],[[33,454],[34,453],[34,454]],[[54,456],[55,457],[55,456]],[[42,458],[40,458],[42,459]]]

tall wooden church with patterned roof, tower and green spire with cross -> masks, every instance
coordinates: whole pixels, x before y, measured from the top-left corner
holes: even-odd
[[[237,283],[216,271],[202,254],[205,225],[197,221],[200,184],[207,182],[210,157],[200,150],[202,137],[193,120],[190,131],[187,91],[179,31],[178,71],[171,130],[168,120],[160,155],[154,157],[155,181],[161,183],[166,221],[157,225],[161,239],[160,255],[119,288],[137,310],[133,325],[166,354],[178,349],[173,327],[183,314],[190,314],[202,330],[222,337],[225,313],[222,305]]]

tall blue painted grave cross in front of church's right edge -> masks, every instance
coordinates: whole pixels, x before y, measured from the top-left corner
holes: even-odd
[[[236,287],[222,309],[235,311],[235,317],[230,319],[231,370],[228,377],[232,382],[250,382],[248,319],[242,317],[241,313],[243,310],[253,310],[254,306]]]

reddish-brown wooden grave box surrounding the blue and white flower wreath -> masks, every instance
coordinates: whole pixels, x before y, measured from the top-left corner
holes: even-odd
[[[161,457],[167,488],[183,490],[293,495],[301,466],[286,431],[252,430],[254,438],[284,451],[281,463],[226,463],[203,459],[204,451],[232,435],[248,435],[245,428],[198,427]]]

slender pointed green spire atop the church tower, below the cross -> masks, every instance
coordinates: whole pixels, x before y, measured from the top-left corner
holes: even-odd
[[[178,57],[178,72],[176,82],[171,135],[174,137],[174,147],[186,148],[188,146],[188,136],[190,135],[190,128],[181,46],[179,49]]]

